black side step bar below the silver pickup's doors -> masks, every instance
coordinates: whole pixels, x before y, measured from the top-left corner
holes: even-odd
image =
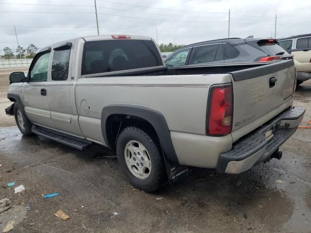
[[[78,150],[84,150],[86,147],[89,147],[92,144],[90,141],[66,135],[64,133],[59,133],[53,130],[45,129],[36,125],[33,125],[31,131],[37,135],[46,137],[55,142],[65,144]]]

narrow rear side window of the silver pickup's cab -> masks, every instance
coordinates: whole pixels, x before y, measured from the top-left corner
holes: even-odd
[[[54,49],[52,60],[52,80],[64,81],[68,78],[70,46]]]

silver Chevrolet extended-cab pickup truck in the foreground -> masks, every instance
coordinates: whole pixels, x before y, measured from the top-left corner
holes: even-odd
[[[80,37],[40,50],[10,75],[6,113],[33,133],[83,150],[116,150],[122,170],[154,191],[188,166],[241,173],[280,159],[296,131],[294,62],[165,67],[150,37]]]

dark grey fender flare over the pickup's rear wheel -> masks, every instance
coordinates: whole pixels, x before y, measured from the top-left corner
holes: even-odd
[[[111,136],[110,132],[112,130],[109,125],[111,120],[116,120],[111,116],[116,115],[122,115],[123,118],[121,119],[141,119],[150,124],[159,139],[166,158],[171,163],[179,164],[176,152],[173,147],[171,133],[164,116],[160,112],[144,106],[130,104],[111,104],[103,108],[101,128],[104,141],[109,148],[114,147],[113,141],[109,138]]]

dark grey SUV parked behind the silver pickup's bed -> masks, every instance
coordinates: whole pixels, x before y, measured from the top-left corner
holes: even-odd
[[[292,60],[275,39],[227,38],[187,45],[165,59],[167,67]]]

